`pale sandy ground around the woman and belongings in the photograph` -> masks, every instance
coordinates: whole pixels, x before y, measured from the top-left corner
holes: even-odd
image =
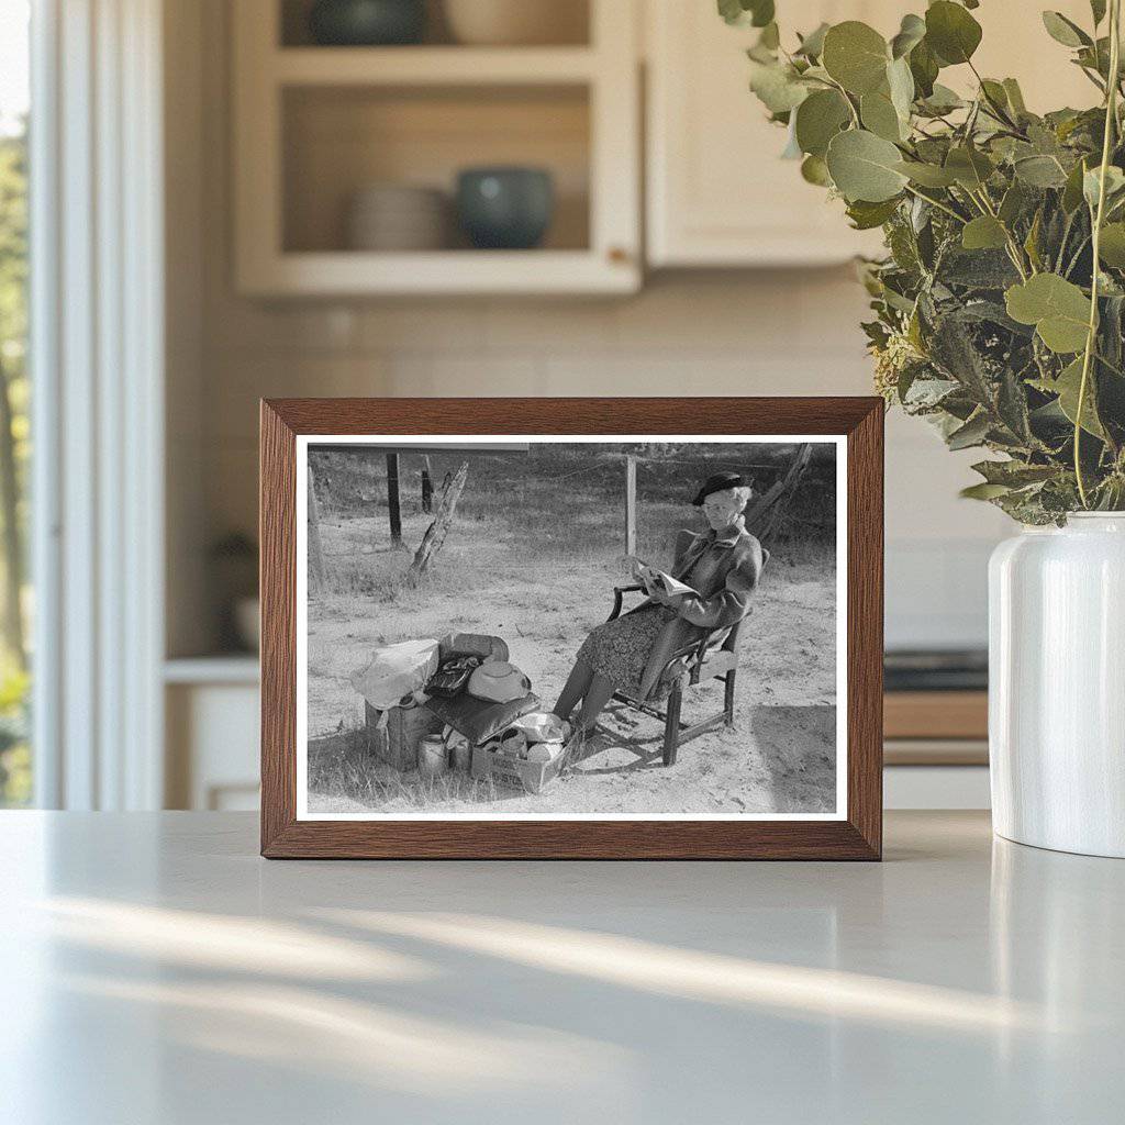
[[[407,543],[428,519],[408,518]],[[357,575],[354,591],[310,601],[308,612],[309,811],[313,812],[825,812],[835,807],[835,576],[828,549],[781,548],[742,627],[734,729],[660,760],[662,726],[623,709],[608,710],[588,755],[538,796],[464,777],[436,786],[398,777],[367,754],[363,704],[350,683],[372,649],[450,631],[503,637],[511,659],[531,677],[544,709],[554,704],[586,632],[612,606],[623,560],[605,551],[568,550],[567,530],[508,532],[495,523],[459,522],[423,587],[398,588],[411,552],[385,540],[378,520],[324,520],[330,559]],[[537,544],[556,542],[557,561]],[[577,539],[573,539],[577,542]],[[577,554],[577,557],[575,555]],[[812,557],[816,556],[816,557]],[[654,559],[658,556],[654,555]],[[339,591],[339,583],[338,583]],[[721,709],[721,685],[693,690],[684,719]]]

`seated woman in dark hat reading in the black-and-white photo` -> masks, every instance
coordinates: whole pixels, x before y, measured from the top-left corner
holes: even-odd
[[[555,704],[555,714],[569,721],[582,703],[573,737],[590,735],[615,691],[638,700],[663,699],[670,684],[649,681],[677,648],[746,616],[762,573],[762,547],[742,519],[749,498],[750,488],[737,472],[709,477],[692,503],[703,510],[711,530],[701,536],[681,531],[670,570],[699,595],[668,596],[656,590],[634,610],[597,626],[583,641]]]

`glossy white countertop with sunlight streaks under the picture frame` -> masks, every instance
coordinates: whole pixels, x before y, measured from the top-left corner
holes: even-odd
[[[1105,1123],[1125,863],[889,813],[883,864],[295,863],[0,813],[0,1122]]]

